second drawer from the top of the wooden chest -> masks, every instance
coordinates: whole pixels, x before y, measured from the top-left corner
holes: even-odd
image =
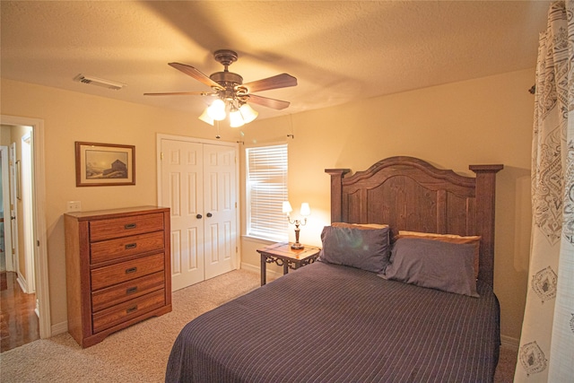
[[[163,231],[156,231],[91,243],[91,264],[133,256],[146,251],[161,250],[164,247],[163,235]]]

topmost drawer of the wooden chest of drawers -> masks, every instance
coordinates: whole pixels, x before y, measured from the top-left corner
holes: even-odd
[[[151,213],[133,217],[110,218],[90,222],[90,241],[114,239],[144,232],[162,231],[163,214]]]

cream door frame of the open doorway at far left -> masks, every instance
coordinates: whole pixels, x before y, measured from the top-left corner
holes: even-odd
[[[49,279],[48,279],[48,249],[46,231],[46,176],[44,152],[44,120],[39,118],[24,118],[9,115],[0,115],[0,123],[9,126],[32,127],[32,207],[34,240],[36,246],[36,298],[39,304],[39,336],[49,338],[52,335]]]

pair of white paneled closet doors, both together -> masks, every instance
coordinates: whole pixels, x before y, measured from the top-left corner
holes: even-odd
[[[238,268],[236,152],[161,139],[161,205],[171,209],[173,291]]]

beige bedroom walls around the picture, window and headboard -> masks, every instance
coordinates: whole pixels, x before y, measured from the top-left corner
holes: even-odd
[[[527,89],[533,82],[534,69],[500,74],[256,120],[242,129],[244,136],[238,130],[222,129],[222,139],[244,141],[241,149],[289,144],[291,205],[296,210],[301,202],[311,205],[312,215],[300,240],[312,245],[320,245],[320,232],[330,222],[326,168],[365,170],[383,158],[410,155],[473,175],[469,164],[503,163],[497,186],[495,291],[502,308],[501,333],[516,340],[526,299],[534,110],[534,98]],[[48,269],[52,324],[56,325],[65,321],[65,202],[80,200],[86,211],[155,204],[156,133],[213,139],[215,132],[184,112],[4,79],[2,100],[2,114],[44,120]],[[294,139],[287,138],[291,134]],[[75,187],[74,141],[135,144],[136,185]],[[243,207],[244,196],[241,201]],[[242,264],[257,268],[255,250],[263,244],[243,239]]]

